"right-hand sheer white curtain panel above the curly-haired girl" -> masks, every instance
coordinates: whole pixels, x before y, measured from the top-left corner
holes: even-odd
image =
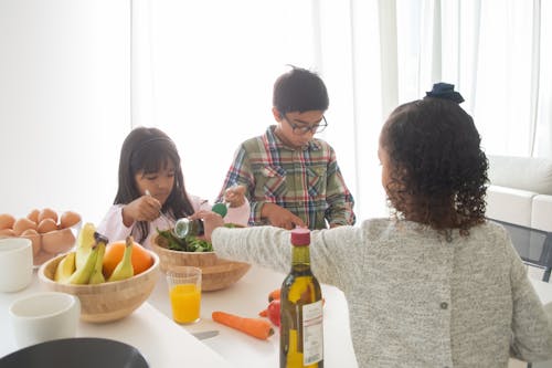
[[[552,157],[552,2],[397,0],[400,101],[456,85],[488,154]]]

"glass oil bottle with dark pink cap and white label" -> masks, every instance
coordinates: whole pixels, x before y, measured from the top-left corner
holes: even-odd
[[[280,368],[322,368],[322,293],[310,271],[310,231],[291,231],[291,271],[282,284]]]

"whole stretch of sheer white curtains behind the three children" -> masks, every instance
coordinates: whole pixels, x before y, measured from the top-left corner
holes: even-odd
[[[552,157],[551,1],[132,0],[132,123],[179,146],[213,199],[237,145],[274,124],[287,64],[326,81],[329,127],[360,219],[385,214],[378,136],[435,82],[466,98],[489,154]],[[546,43],[549,42],[549,43]]]

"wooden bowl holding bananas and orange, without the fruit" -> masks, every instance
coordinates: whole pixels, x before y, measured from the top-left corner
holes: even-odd
[[[50,291],[78,296],[81,319],[89,323],[106,323],[121,319],[138,308],[151,294],[159,277],[159,257],[148,251],[153,264],[130,278],[96,285],[70,285],[54,281],[55,269],[65,256],[59,255],[39,269],[39,280]]]

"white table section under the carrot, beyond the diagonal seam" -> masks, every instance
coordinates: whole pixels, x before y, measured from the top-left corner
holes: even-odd
[[[244,317],[258,317],[268,306],[268,293],[280,287],[285,275],[252,266],[234,285],[202,294],[201,320],[182,326],[189,332],[217,329],[219,336],[202,340],[235,367],[277,367],[279,361],[279,332],[267,340],[259,340],[211,319],[213,311],[224,311]],[[349,329],[349,312],[344,295],[333,286],[321,285],[323,306],[323,345],[326,367],[355,368],[357,359]],[[148,302],[171,318],[168,287],[161,277]]]

